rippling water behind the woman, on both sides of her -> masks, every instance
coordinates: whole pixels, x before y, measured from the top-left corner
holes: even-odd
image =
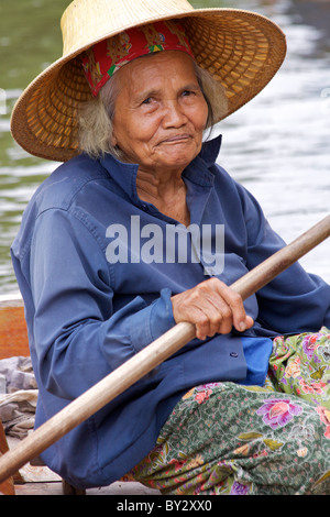
[[[287,241],[330,212],[330,0],[193,0],[195,8],[264,14],[287,36],[273,81],[217,128],[218,162],[261,202]],[[38,184],[58,165],[29,156],[10,134],[21,91],[62,55],[68,0],[0,0],[0,298],[16,295],[10,245]],[[330,239],[301,260],[330,283]]]

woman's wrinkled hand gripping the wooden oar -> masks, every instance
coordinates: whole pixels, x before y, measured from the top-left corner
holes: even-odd
[[[242,297],[218,278],[201,282],[170,299],[176,323],[194,323],[196,337],[201,340],[216,333],[229,333],[232,327],[242,332],[253,326]]]

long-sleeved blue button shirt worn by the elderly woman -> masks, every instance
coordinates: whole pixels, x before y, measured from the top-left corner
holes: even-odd
[[[224,267],[216,273],[230,285],[284,242],[253,196],[216,164],[219,150],[220,139],[205,144],[183,177],[191,224],[224,228]],[[40,389],[36,426],[173,327],[172,294],[213,274],[207,256],[151,261],[151,240],[136,235],[132,220],[144,231],[156,224],[164,239],[178,223],[139,198],[136,174],[138,165],[111,155],[79,155],[41,185],[23,215],[12,260]],[[141,260],[145,243],[148,260]],[[45,462],[76,486],[118,480],[154,447],[190,387],[263,384],[272,337],[329,326],[330,287],[295,264],[245,308],[253,329],[193,340],[52,446]]]

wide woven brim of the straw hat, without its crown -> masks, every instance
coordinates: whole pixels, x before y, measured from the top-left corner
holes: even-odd
[[[199,9],[156,20],[170,19],[180,19],[197,64],[223,86],[228,111],[222,118],[253,99],[284,61],[285,35],[261,14],[238,9]],[[113,35],[113,31],[102,34],[61,57],[21,95],[12,112],[11,131],[30,154],[65,162],[79,153],[77,111],[81,102],[92,98],[80,54]]]

